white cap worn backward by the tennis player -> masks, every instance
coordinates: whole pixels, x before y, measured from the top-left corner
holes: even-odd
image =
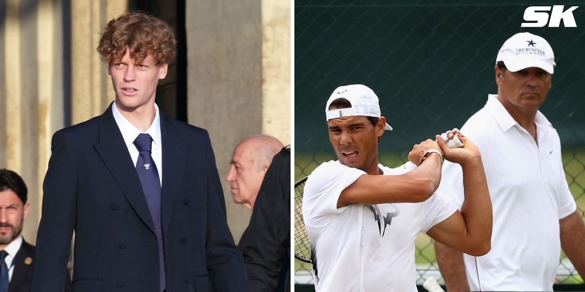
[[[329,110],[329,106],[338,98],[345,98],[351,103],[352,107],[347,109]],[[325,116],[327,120],[347,116],[366,116],[380,117],[380,103],[378,96],[368,86],[362,84],[352,84],[339,86],[336,88],[325,106]],[[392,127],[386,123],[384,130],[392,131]]]

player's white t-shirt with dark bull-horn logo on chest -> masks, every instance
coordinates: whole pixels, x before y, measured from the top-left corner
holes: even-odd
[[[407,172],[378,167],[384,175]],[[417,291],[415,238],[457,208],[434,195],[423,203],[337,208],[342,190],[364,174],[329,161],[305,183],[302,214],[311,238],[316,291]]]

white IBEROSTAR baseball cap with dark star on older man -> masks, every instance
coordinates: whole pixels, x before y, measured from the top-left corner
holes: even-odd
[[[499,61],[511,72],[538,67],[553,74],[556,66],[555,53],[548,41],[532,33],[517,33],[507,39],[495,57],[495,62]]]

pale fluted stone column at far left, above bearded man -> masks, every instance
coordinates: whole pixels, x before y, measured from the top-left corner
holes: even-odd
[[[63,35],[55,2],[0,2],[0,168],[25,180],[30,211],[22,233],[33,243],[51,135],[63,127]]]

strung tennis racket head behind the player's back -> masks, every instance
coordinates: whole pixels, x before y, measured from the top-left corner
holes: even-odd
[[[294,184],[294,257],[305,263],[311,261],[311,241],[302,219],[302,193],[308,176]]]

